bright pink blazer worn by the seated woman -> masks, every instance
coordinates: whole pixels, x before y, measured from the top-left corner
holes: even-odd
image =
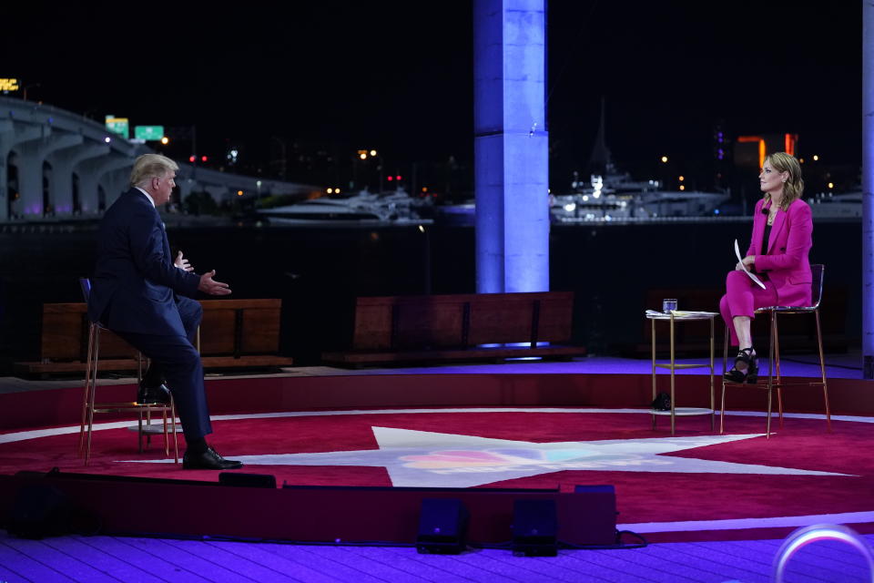
[[[756,203],[753,214],[753,236],[747,255],[756,256],[756,271],[767,274],[777,289],[781,306],[808,306],[811,299],[808,254],[813,246],[813,219],[808,203],[797,199],[788,210],[777,210],[771,235],[767,239],[767,255],[762,255],[762,237],[765,235],[767,214],[762,213],[765,199]],[[770,208],[770,202],[765,209]]]

